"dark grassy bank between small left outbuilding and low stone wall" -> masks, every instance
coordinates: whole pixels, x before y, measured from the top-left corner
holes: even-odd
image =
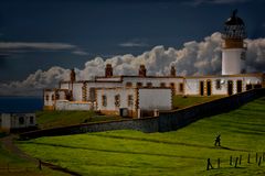
[[[115,116],[98,116],[94,111],[39,111],[36,122],[40,129],[57,128],[84,122],[118,120]]]

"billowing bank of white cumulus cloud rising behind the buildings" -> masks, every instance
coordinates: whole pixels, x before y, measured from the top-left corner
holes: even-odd
[[[265,72],[265,38],[246,40],[247,72]],[[191,41],[180,50],[156,46],[138,56],[131,54],[113,56],[107,59],[95,57],[85,63],[84,69],[75,68],[77,79],[93,79],[103,76],[106,64],[112,64],[115,75],[137,75],[145,64],[147,75],[169,75],[176,66],[177,75],[221,74],[221,33],[213,33],[203,41]],[[0,84],[0,95],[41,95],[43,88],[57,87],[60,80],[68,80],[70,70],[52,67],[36,70],[23,81]]]

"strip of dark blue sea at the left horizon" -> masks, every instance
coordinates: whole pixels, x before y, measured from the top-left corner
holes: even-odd
[[[42,97],[0,97],[0,113],[29,113],[42,107]]]

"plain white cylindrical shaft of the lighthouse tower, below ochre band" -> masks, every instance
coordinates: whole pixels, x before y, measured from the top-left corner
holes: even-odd
[[[236,75],[245,69],[245,61],[242,59],[244,48],[224,48],[222,51],[222,75]]]

